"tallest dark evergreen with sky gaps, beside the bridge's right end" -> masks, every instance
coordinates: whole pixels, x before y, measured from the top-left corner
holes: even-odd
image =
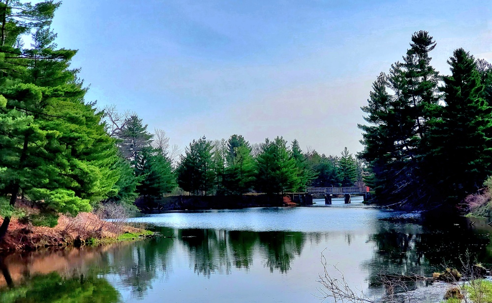
[[[362,108],[369,125],[359,125],[365,149],[358,157],[369,164],[368,185],[380,202],[404,203],[428,194],[421,168],[429,152],[430,125],[440,109],[440,77],[429,55],[436,44],[428,32],[418,31],[410,46],[403,62],[374,82],[369,105]]]

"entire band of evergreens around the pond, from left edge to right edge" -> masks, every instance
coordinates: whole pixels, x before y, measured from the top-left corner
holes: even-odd
[[[363,107],[368,125],[359,125],[360,160],[346,148],[338,157],[303,152],[282,137],[255,144],[203,137],[181,151],[136,113],[97,110],[84,99],[87,87],[70,67],[76,51],[54,43],[59,6],[0,3],[0,238],[18,196],[42,213],[75,215],[138,196],[300,192],[365,178],[381,203],[429,206],[456,203],[491,175],[491,65],[458,49],[452,74],[441,77],[425,31],[374,82]]]

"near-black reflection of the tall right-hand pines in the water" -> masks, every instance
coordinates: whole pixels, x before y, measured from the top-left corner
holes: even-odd
[[[467,252],[471,262],[490,262],[490,253],[484,249],[490,242],[488,237],[462,225],[424,226],[382,221],[377,232],[369,235],[368,242],[375,249],[362,266],[369,270],[371,284],[378,285],[381,273],[429,276],[445,265],[461,268]]]

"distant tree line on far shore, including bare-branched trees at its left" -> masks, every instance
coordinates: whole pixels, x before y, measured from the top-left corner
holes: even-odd
[[[107,132],[116,138],[120,151],[122,175],[112,201],[153,200],[176,193],[178,187],[190,195],[241,195],[362,183],[362,163],[347,148],[341,157],[326,157],[315,150],[303,153],[297,140],[290,146],[282,137],[250,144],[243,136],[232,135],[227,140],[193,140],[181,154],[177,146],[170,148],[164,131],[149,133],[135,113],[123,117],[114,107],[105,112]]]

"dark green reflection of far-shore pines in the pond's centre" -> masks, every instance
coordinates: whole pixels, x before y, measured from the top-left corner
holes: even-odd
[[[189,249],[190,267],[205,276],[230,274],[232,264],[248,270],[257,250],[261,250],[270,272],[277,269],[285,273],[306,242],[306,234],[301,232],[184,229],[178,234]]]

